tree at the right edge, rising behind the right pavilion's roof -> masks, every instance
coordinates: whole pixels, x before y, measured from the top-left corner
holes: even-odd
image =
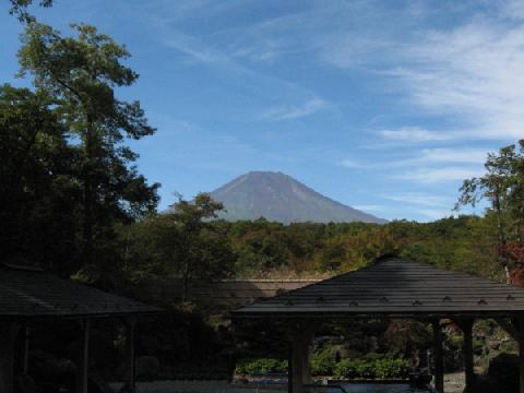
[[[455,206],[475,206],[487,199],[497,217],[500,262],[509,278],[509,259],[504,250],[509,240],[523,241],[524,234],[524,140],[502,147],[498,154],[489,154],[485,164],[486,175],[467,179],[461,188]]]

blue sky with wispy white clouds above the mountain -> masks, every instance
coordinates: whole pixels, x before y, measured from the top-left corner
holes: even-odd
[[[524,0],[56,0],[132,53],[157,133],[133,147],[160,207],[281,170],[384,217],[452,214],[462,179],[524,138]],[[2,81],[21,26],[0,5]],[[477,210],[476,213],[481,213]]]

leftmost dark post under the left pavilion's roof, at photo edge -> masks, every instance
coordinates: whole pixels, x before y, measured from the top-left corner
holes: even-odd
[[[0,323],[0,392],[14,391],[14,352],[20,326],[14,322]]]

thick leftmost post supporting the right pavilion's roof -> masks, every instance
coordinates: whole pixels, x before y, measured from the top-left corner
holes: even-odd
[[[310,345],[313,335],[311,324],[299,323],[290,332],[291,393],[303,393],[305,384],[311,383]]]

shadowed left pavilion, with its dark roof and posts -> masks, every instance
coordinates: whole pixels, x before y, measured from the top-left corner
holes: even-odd
[[[90,333],[100,319],[119,319],[127,330],[127,381],[135,391],[136,319],[159,310],[142,302],[58,278],[39,269],[0,264],[0,392],[15,389],[15,370],[31,376],[31,331],[73,323],[81,343],[75,392],[87,393]]]

